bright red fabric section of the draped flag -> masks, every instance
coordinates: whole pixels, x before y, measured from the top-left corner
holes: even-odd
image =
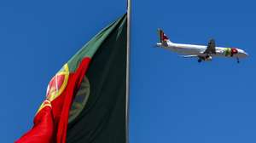
[[[66,143],[69,109],[89,63],[90,58],[84,58],[76,72],[70,73],[63,92],[51,102],[46,100],[46,106],[39,110],[34,118],[33,128],[16,143]]]

